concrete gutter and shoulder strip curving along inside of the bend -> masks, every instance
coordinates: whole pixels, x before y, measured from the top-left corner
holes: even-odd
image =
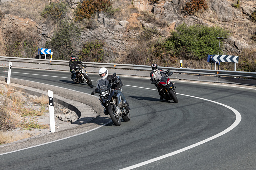
[[[4,77],[0,78],[0,83],[6,84],[5,79],[6,78]],[[48,96],[48,90],[53,91],[54,102],[75,111],[79,117],[77,120],[79,121],[79,124],[90,122],[100,115],[100,113],[103,113],[102,106],[99,106],[99,99],[97,97],[92,97],[91,95],[81,95],[80,92],[74,90],[68,90],[52,85],[47,85],[46,87],[43,83],[15,78],[11,79],[9,85],[14,87],[16,90],[36,96]]]

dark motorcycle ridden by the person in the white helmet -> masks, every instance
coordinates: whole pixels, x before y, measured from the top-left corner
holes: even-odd
[[[113,77],[116,76],[116,73],[113,74]],[[100,79],[100,101],[104,109],[108,110],[109,116],[113,123],[116,126],[121,125],[121,117],[124,121],[130,121],[130,113],[125,110],[123,106],[123,101],[119,93],[116,93],[116,90],[122,91],[121,87],[123,83],[119,76],[116,79],[109,83],[106,79]],[[105,108],[105,106],[106,108]]]

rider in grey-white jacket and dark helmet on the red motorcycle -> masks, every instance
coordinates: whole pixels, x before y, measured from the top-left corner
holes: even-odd
[[[157,83],[161,80],[162,77],[166,77],[167,72],[162,69],[158,69],[157,64],[151,65],[152,72],[150,73],[151,84],[154,84],[157,87],[158,93],[160,95],[160,100],[163,100],[161,95],[161,89],[157,86]]]

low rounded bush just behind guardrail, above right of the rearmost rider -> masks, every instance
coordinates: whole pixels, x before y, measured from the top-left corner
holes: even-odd
[[[102,62],[104,56],[104,42],[92,40],[86,42],[80,51],[80,60],[88,62]]]

